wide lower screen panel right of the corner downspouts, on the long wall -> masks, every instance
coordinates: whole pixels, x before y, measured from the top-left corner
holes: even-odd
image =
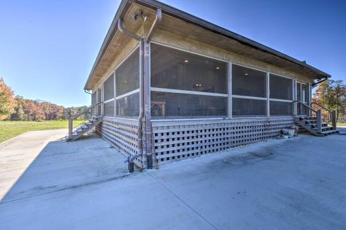
[[[152,91],[153,118],[227,116],[228,98]]]

